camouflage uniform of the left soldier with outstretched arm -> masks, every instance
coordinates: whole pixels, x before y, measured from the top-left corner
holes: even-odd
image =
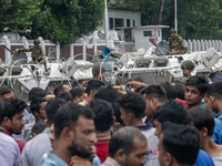
[[[34,46],[29,48],[29,49],[20,49],[20,51],[24,51],[24,52],[31,52],[31,58],[32,61],[34,62],[38,59],[38,62],[41,62],[44,60],[44,52],[42,46],[38,46],[38,49],[36,50]]]

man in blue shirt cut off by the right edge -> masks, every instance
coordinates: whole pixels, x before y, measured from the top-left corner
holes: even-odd
[[[204,97],[205,107],[215,112],[215,127],[213,133],[213,141],[222,145],[222,81],[216,81],[209,86]]]

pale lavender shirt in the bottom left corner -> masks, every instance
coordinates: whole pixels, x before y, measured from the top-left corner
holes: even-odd
[[[0,165],[19,166],[20,152],[16,141],[0,132]]]

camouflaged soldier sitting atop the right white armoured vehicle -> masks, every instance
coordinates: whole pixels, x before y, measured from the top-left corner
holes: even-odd
[[[168,39],[170,54],[184,54],[186,53],[186,48],[184,48],[183,39],[179,34],[175,35],[175,33],[174,29],[170,30],[171,38]]]

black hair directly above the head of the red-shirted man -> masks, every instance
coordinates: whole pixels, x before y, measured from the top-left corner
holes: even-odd
[[[94,98],[101,98],[107,102],[114,102],[118,98],[118,91],[111,84],[101,86],[94,94]]]

